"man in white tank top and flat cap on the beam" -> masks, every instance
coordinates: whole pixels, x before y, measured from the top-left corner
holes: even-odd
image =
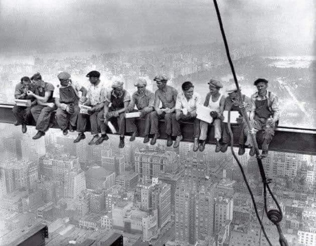
[[[213,117],[213,126],[215,129],[216,148],[215,152],[221,150],[220,139],[222,138],[221,120],[223,120],[223,111],[225,106],[225,97],[220,93],[222,83],[216,79],[211,79],[209,84],[210,92],[206,95],[204,106],[211,109],[211,116]],[[207,138],[209,123],[200,121],[200,151],[205,149],[205,141]]]

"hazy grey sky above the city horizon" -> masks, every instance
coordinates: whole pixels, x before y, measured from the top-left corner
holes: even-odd
[[[218,2],[232,45],[278,39],[281,47],[311,47],[313,0]],[[1,0],[0,26],[2,54],[222,40],[211,0]]]

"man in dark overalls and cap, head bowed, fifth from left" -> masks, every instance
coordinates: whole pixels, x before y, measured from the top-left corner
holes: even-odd
[[[125,110],[130,104],[131,96],[123,89],[123,82],[114,81],[112,84],[112,92],[109,95],[111,107],[109,103],[105,103],[103,110],[98,115],[101,131],[106,130],[108,120],[119,125],[119,148],[124,148],[125,135]]]

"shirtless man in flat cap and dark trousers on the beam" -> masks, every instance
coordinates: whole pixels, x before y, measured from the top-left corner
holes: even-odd
[[[172,136],[176,136],[173,131],[174,127],[178,127],[179,122],[176,120],[175,104],[177,101],[178,91],[172,86],[167,85],[167,77],[158,75],[154,78],[157,83],[158,90],[155,91],[155,111],[150,113],[151,129],[150,134],[154,134],[150,144],[154,145],[159,138],[158,120],[165,120],[165,132],[167,134],[167,146],[173,143]],[[162,108],[159,107],[160,102]]]

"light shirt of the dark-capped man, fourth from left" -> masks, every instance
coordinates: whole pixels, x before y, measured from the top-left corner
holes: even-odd
[[[110,102],[109,90],[100,82],[99,85],[91,84],[88,88],[87,98],[90,99],[91,105],[96,106],[100,103]]]

